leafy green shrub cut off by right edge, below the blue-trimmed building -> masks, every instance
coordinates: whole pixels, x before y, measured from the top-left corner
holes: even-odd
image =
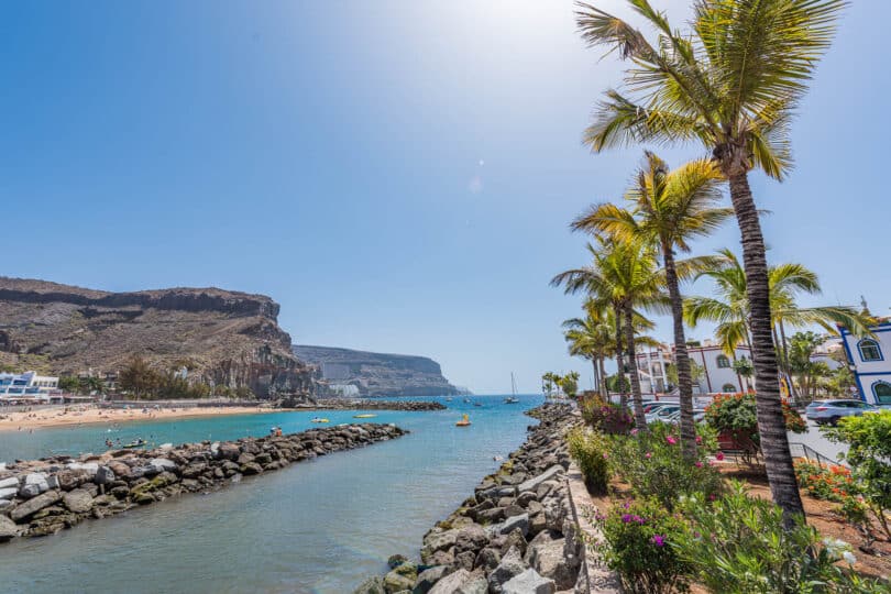
[[[891,410],[844,417],[823,430],[833,441],[848,444],[845,455],[866,504],[891,538],[887,513],[891,509]]]

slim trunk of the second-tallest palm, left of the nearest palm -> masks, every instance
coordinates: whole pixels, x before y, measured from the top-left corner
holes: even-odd
[[[670,245],[662,245],[666,264],[666,285],[671,300],[671,317],[674,322],[674,365],[678,369],[678,391],[681,404],[681,450],[686,457],[696,455],[696,425],[693,421],[693,378],[690,375],[690,356],[684,337],[683,299],[678,287],[678,270]]]

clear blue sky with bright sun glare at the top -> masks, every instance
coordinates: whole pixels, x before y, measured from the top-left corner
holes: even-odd
[[[769,260],[820,275],[803,305],[889,314],[890,18],[850,4],[794,172],[752,176]],[[581,298],[549,280],[586,264],[568,223],[618,199],[644,147],[581,144],[622,64],[585,47],[572,2],[3,2],[0,19],[0,275],[261,293],[295,343],[427,355],[481,394],[512,372],[524,392],[546,371],[591,385],[560,331]],[[732,224],[696,251],[723,246]]]

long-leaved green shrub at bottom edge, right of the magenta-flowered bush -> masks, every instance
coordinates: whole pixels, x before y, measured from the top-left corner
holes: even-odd
[[[881,592],[836,563],[853,564],[850,546],[821,541],[813,527],[783,526],[782,510],[767,499],[749,497],[741,483],[708,503],[701,495],[679,506],[688,520],[671,543],[708,591],[751,593]]]

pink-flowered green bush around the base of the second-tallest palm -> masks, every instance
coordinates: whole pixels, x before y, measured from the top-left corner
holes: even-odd
[[[656,422],[649,432],[610,439],[613,468],[641,497],[654,497],[672,509],[682,495],[714,497],[722,488],[721,473],[707,457],[716,448],[714,431],[697,427],[698,448],[693,459],[681,452],[676,428]]]

